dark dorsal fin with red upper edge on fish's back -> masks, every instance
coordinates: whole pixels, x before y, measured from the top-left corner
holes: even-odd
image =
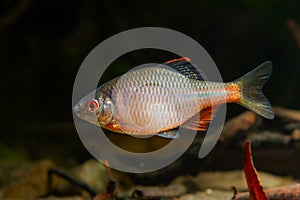
[[[191,59],[187,57],[170,60],[164,64],[186,76],[187,78],[204,80],[201,72],[199,72],[199,70],[193,66]]]

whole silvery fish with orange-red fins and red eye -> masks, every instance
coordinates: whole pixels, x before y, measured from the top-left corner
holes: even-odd
[[[272,73],[266,61],[234,81],[206,81],[192,61],[178,58],[157,66],[136,68],[83,97],[73,112],[112,132],[178,138],[178,128],[205,131],[224,103],[237,103],[273,119],[262,88]]]

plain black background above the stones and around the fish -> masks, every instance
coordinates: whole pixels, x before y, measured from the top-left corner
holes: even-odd
[[[2,0],[0,159],[52,158],[68,165],[89,158],[72,120],[77,70],[103,40],[137,27],[164,27],[192,37],[225,81],[271,60],[266,95],[272,105],[300,109],[300,51],[296,33],[288,28],[290,20],[300,23],[299,8],[298,0]],[[103,78],[169,57],[158,50],[132,52]],[[227,112],[232,117],[244,110],[233,105]]]

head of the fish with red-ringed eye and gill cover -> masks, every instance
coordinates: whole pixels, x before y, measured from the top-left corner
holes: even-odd
[[[89,94],[73,107],[73,112],[77,117],[87,122],[105,127],[113,120],[113,108],[110,97],[102,93],[98,95]]]

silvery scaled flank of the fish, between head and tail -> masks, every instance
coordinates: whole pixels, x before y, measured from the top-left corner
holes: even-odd
[[[176,72],[161,70],[156,68],[148,68],[146,71],[137,70],[128,77],[124,75],[116,84],[115,93],[119,98],[114,102],[116,105],[122,105],[121,107],[116,106],[116,115],[120,116],[118,121],[131,124],[129,127],[126,126],[124,132],[134,133],[137,130],[134,130],[135,127],[132,124],[146,126],[151,123],[153,118],[164,121],[165,126],[162,127],[161,124],[155,126],[154,124],[152,129],[143,130],[146,134],[165,129],[165,127],[176,127],[198,113],[199,109],[212,105],[213,97],[217,95],[215,91],[224,88],[224,84],[221,83],[191,80]],[[155,73],[159,74],[155,75]],[[131,81],[130,78],[135,76],[139,78]],[[170,77],[176,81],[171,81]],[[123,84],[123,82],[127,84]],[[147,86],[144,87],[145,85]],[[130,88],[129,92],[125,96],[122,95],[128,87]],[[159,98],[153,98],[153,96]],[[225,96],[226,93],[223,92],[223,102],[225,102]],[[123,98],[129,102],[124,103]],[[126,110],[124,110],[124,104],[127,104]],[[165,111],[167,114],[162,114],[161,111]],[[157,122],[157,120],[153,121]]]

